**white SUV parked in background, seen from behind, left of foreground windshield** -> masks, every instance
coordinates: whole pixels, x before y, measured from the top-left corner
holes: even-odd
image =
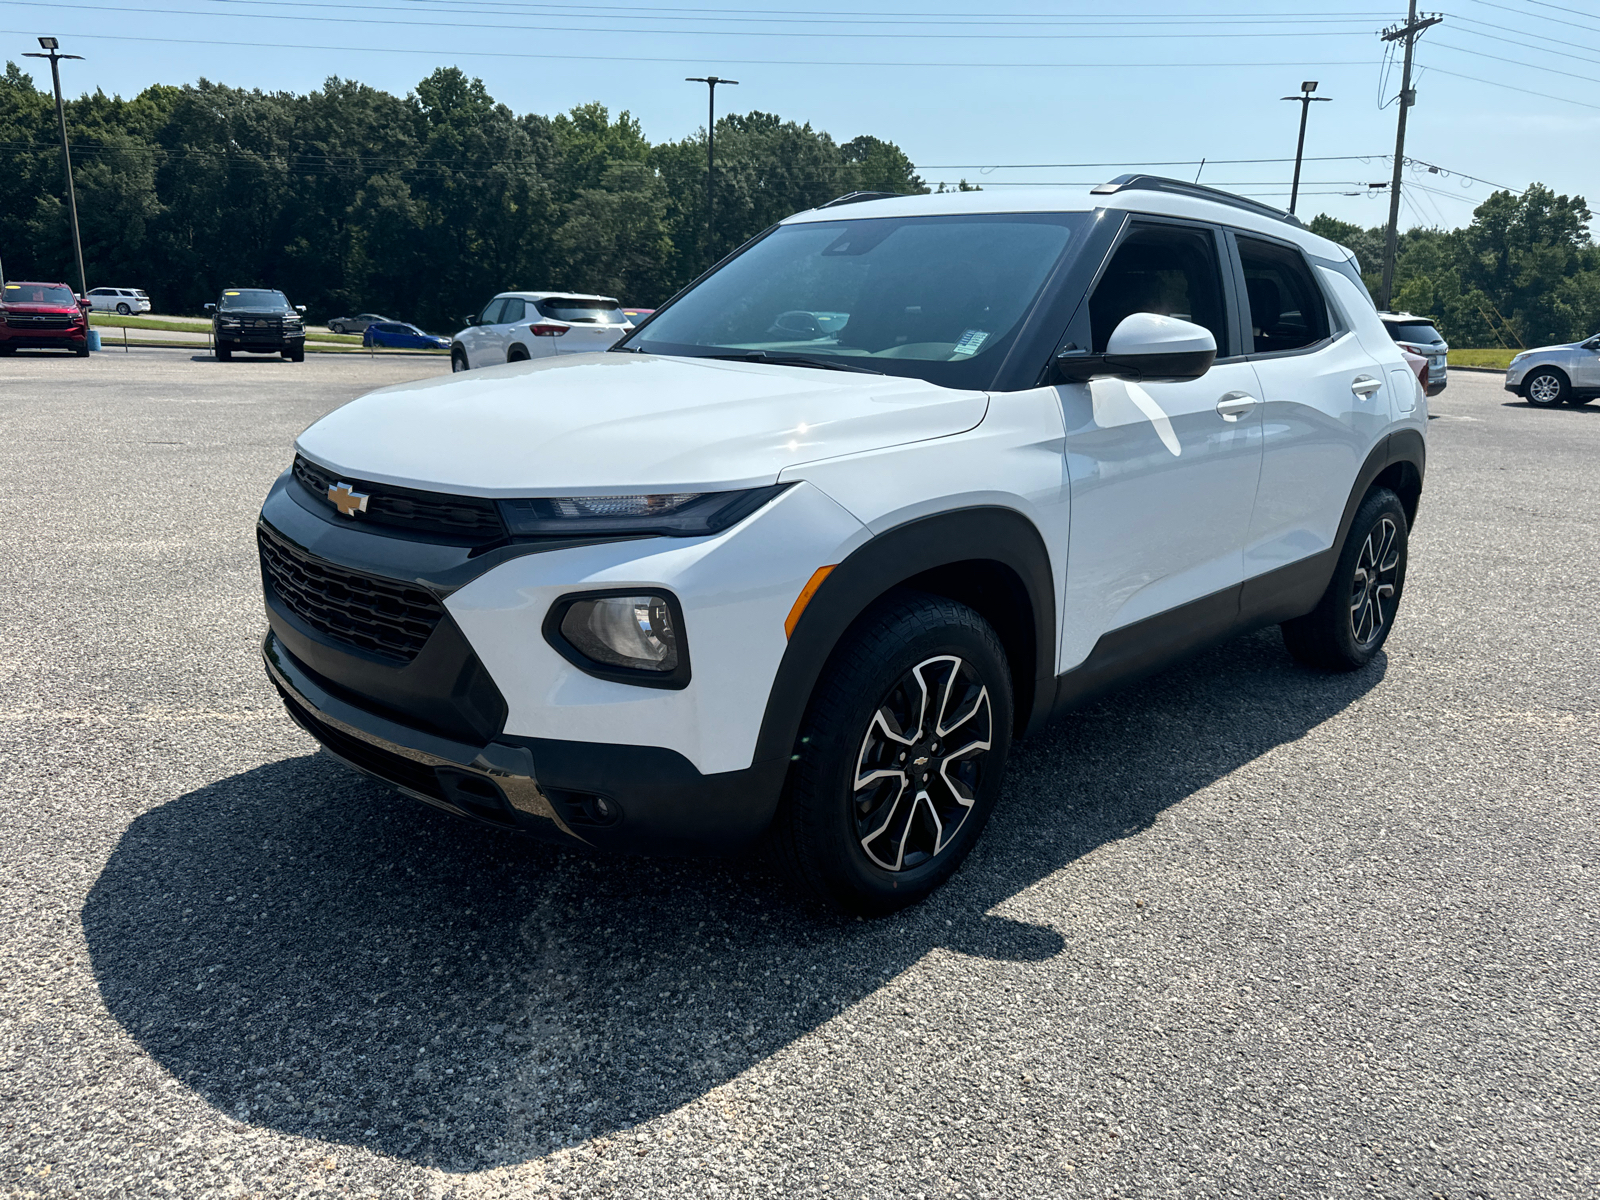
[[[467,317],[467,328],[456,334],[450,365],[454,371],[469,371],[557,354],[610,350],[632,328],[611,296],[502,291],[477,317]]]

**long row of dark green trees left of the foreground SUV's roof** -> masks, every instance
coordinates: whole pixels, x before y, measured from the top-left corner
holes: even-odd
[[[206,80],[67,104],[88,285],[158,312],[275,286],[310,317],[386,312],[454,330],[496,291],[592,291],[654,307],[790,213],[854,190],[926,192],[893,142],[765,112],[651,144],[602,104],[517,115],[435,70],[400,98],[330,78],[309,94]],[[54,98],[0,80],[0,261],[77,286]]]

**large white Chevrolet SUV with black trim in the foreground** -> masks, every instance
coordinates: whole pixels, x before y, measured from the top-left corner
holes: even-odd
[[[1149,176],[834,202],[610,354],[310,426],[258,526],[266,664],[451,813],[770,837],[886,912],[1053,715],[1267,624],[1378,654],[1426,427],[1352,256],[1277,210]]]

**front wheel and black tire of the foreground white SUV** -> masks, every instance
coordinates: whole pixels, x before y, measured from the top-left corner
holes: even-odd
[[[867,917],[928,896],[994,810],[1011,715],[1005,650],[978,613],[918,592],[886,597],[840,642],[811,694],[773,824],[784,874]]]

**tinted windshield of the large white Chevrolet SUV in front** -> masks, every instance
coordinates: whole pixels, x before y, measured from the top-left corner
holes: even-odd
[[[981,386],[1086,219],[978,213],[781,226],[624,344],[690,357],[800,355]]]

